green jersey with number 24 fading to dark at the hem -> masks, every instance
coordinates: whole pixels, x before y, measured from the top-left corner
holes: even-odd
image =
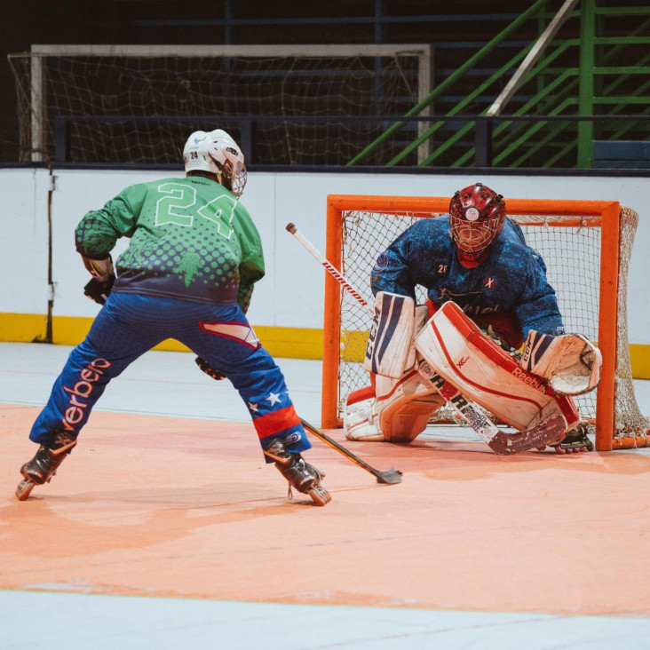
[[[107,257],[120,237],[113,290],[248,308],[264,276],[258,229],[248,211],[217,181],[167,178],[127,187],[75,230],[76,250]]]

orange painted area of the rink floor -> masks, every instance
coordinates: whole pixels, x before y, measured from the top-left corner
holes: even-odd
[[[288,501],[250,424],[96,412],[52,483],[20,503],[37,413],[0,409],[2,589],[648,614],[648,456],[346,443],[404,472],[389,486],[314,440],[333,497],[319,508]]]

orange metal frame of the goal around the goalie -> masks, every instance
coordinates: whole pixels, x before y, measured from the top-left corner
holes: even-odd
[[[327,202],[326,257],[337,269],[342,267],[343,213],[347,210],[365,212],[408,213],[410,216],[446,214],[451,197],[369,196],[363,194],[330,194]],[[601,451],[635,446],[634,438],[614,440],[614,381],[617,357],[617,314],[619,295],[620,236],[622,206],[615,201],[547,201],[508,199],[512,215],[539,215],[549,222],[553,215],[572,216],[575,222],[565,226],[581,226],[581,217],[590,216],[600,226],[600,280],[598,297],[598,347],[603,367],[598,384],[596,406],[596,448]],[[368,272],[374,260],[368,260]],[[345,274],[345,273],[344,273]],[[321,424],[324,428],[342,426],[337,416],[338,365],[340,355],[341,319],[339,305],[343,289],[326,274],[323,329]],[[639,442],[639,440],[637,440]],[[640,442],[639,446],[646,442]]]

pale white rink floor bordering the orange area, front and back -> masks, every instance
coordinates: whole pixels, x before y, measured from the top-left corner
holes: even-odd
[[[0,403],[42,406],[69,350],[57,345],[0,344]],[[231,384],[202,375],[193,359],[186,353],[148,353],[108,386],[97,410],[248,421],[247,409]],[[298,413],[319,425],[321,363],[286,359],[278,363]],[[179,391],[179,384],[191,390]],[[637,381],[635,388],[641,409],[650,413],[650,381]],[[445,435],[474,439],[473,432],[457,427],[446,428]],[[15,471],[4,467],[4,472]],[[644,561],[642,556],[641,551],[638,561]],[[650,648],[650,618],[0,591],[2,650],[160,649],[198,644],[234,650],[610,650],[616,646],[640,650]]]

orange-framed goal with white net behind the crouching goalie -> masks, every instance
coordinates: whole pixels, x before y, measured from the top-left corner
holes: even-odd
[[[373,304],[369,275],[379,254],[419,218],[448,213],[450,197],[330,195],[327,252]],[[507,200],[508,217],[538,250],[556,290],[567,332],[603,355],[598,389],[575,398],[595,428],[596,448],[646,447],[650,421],[638,408],[627,336],[627,276],[638,214],[618,202]],[[417,288],[424,303],[424,288]],[[369,384],[363,357],[369,313],[334,278],[325,281],[322,426],[342,425],[347,395]]]

